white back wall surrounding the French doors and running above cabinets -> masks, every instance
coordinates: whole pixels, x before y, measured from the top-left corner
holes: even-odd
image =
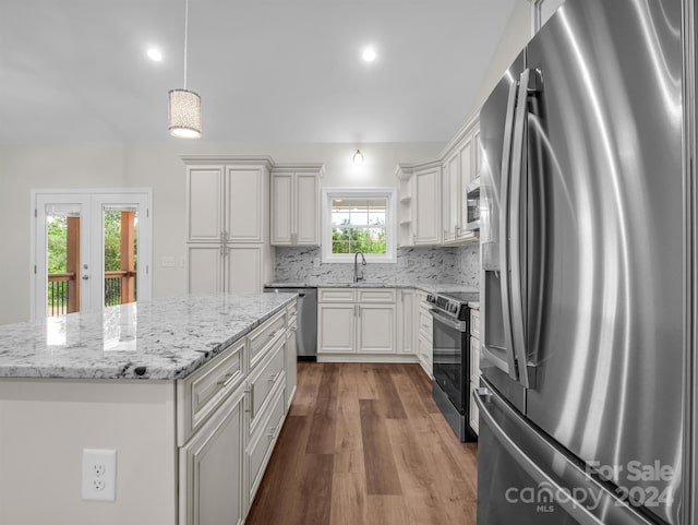
[[[395,166],[436,158],[443,143],[359,145],[362,167],[351,165],[356,144],[80,144],[0,147],[0,324],[29,319],[31,199],[33,189],[152,188],[153,296],[186,290],[183,267],[161,258],[185,255],[185,184],[182,154],[265,154],[276,163],[325,163],[326,187],[396,187]]]

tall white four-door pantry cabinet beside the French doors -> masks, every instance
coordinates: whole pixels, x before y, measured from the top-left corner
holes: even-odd
[[[261,293],[274,274],[266,156],[183,157],[188,290]]]

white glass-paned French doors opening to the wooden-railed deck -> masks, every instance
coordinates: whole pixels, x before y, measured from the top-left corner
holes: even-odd
[[[33,319],[151,297],[149,190],[35,191]]]

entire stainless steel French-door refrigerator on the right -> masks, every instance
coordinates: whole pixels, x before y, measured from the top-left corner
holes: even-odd
[[[479,525],[696,523],[694,16],[567,0],[481,110]]]

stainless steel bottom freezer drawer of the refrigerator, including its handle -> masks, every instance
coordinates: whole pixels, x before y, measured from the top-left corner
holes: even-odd
[[[486,383],[480,409],[478,525],[650,525],[614,488],[532,427]]]

